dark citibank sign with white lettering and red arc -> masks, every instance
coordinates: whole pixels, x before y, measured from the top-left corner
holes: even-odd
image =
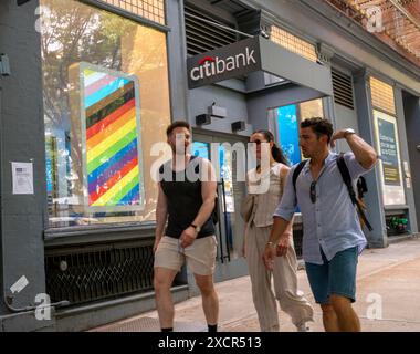
[[[259,38],[189,58],[188,86],[195,88],[261,70]]]

